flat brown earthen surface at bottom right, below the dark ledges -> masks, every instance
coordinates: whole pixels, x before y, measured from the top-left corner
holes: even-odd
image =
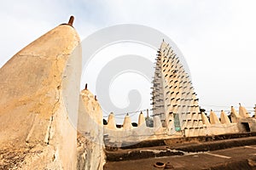
[[[105,164],[104,170],[165,169],[164,167],[154,167],[156,162],[170,162],[170,169],[256,169],[256,145],[245,145],[206,152],[183,153],[183,156],[165,156],[131,161],[109,161]]]

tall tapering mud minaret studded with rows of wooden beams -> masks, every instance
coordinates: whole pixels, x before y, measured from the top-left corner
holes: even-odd
[[[166,42],[157,54],[153,81],[153,113],[171,132],[201,127],[198,99],[189,74]]]

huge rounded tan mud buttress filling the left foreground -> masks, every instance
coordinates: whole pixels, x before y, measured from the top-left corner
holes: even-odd
[[[79,36],[67,25],[47,32],[3,65],[0,167],[75,169],[77,122],[68,114],[78,114],[80,75]],[[67,99],[71,87],[73,101]]]

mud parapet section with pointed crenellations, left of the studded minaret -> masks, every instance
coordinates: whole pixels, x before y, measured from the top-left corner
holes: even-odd
[[[180,135],[173,133],[172,137]],[[131,124],[130,116],[125,116],[122,127],[116,127],[113,113],[108,116],[108,124],[104,126],[104,141],[108,147],[121,147],[137,144],[148,139],[170,138],[166,127],[162,127],[159,116],[154,116],[154,127],[147,127],[143,113],[138,117],[137,127]]]

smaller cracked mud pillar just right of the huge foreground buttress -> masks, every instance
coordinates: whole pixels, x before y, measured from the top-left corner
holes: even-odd
[[[78,122],[77,169],[102,169],[103,144],[102,108],[94,95],[84,89],[80,94]]]

